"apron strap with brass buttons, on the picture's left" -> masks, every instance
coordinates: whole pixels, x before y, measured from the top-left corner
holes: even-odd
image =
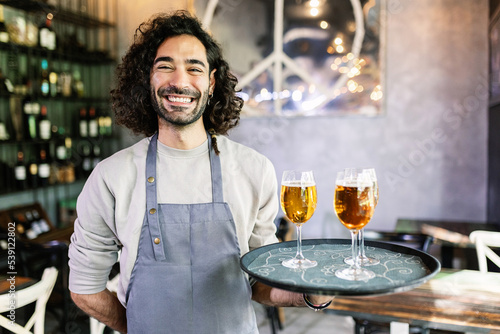
[[[146,216],[149,224],[151,244],[156,260],[165,260],[165,250],[158,220],[158,200],[156,197],[156,149],[158,133],[151,137],[146,157]],[[157,239],[160,242],[154,242]]]

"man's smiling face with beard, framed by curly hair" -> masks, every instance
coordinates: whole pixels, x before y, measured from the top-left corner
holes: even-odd
[[[194,36],[166,39],[151,70],[151,97],[161,119],[185,126],[200,120],[215,84],[206,50]]]

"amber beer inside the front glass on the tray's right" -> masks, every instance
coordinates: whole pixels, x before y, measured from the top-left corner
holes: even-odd
[[[362,229],[375,211],[373,187],[337,185],[333,205],[345,227],[350,230]]]

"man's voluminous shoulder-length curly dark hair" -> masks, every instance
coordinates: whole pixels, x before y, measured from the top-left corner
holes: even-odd
[[[182,10],[155,15],[135,31],[134,43],[117,67],[116,88],[111,90],[116,123],[135,134],[151,136],[158,131],[150,72],[159,46],[167,38],[179,35],[192,35],[205,46],[210,71],[216,71],[213,96],[203,113],[203,123],[212,134],[227,134],[238,124],[243,107],[243,100],[236,95],[238,80],[230,72],[219,44],[203,30],[197,18]]]

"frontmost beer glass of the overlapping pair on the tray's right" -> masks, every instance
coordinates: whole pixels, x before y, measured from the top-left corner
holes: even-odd
[[[349,268],[337,270],[335,275],[350,281],[367,281],[375,273],[361,268],[358,256],[359,231],[370,221],[375,210],[375,193],[370,173],[363,169],[346,168],[337,173],[334,208],[340,222],[351,232],[352,259]]]

